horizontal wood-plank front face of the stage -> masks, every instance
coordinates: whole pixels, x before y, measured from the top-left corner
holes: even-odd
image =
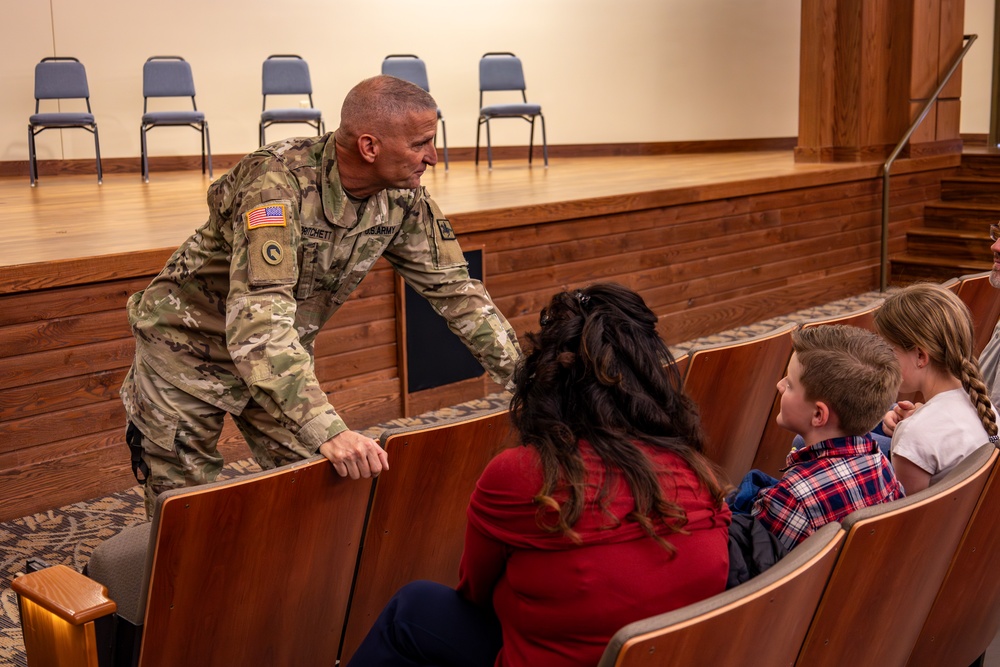
[[[893,250],[952,170],[938,160],[894,178]],[[484,247],[487,287],[519,334],[537,326],[553,293],[615,281],[639,291],[664,338],[679,343],[877,289],[877,172],[859,166],[827,181],[810,172],[452,222],[463,243]],[[166,254],[64,262],[53,271],[66,286],[0,295],[0,520],[134,484],[118,397],[133,353],[124,304]],[[132,267],[127,276],[122,267]],[[354,428],[402,415],[395,299],[393,273],[380,261],[316,343],[323,387]],[[422,392],[414,405],[490,390],[467,382]],[[223,452],[248,455],[235,429]]]

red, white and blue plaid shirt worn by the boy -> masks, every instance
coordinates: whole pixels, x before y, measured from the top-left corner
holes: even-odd
[[[792,450],[784,476],[757,494],[751,514],[791,549],[856,509],[903,497],[874,440],[849,436]]]

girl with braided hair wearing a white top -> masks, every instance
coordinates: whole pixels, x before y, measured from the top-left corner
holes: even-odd
[[[896,476],[913,494],[980,445],[996,442],[996,414],[973,355],[972,317],[954,292],[909,285],[876,311],[875,329],[899,359],[900,392],[919,392],[924,400],[917,406],[900,401],[883,420]]]

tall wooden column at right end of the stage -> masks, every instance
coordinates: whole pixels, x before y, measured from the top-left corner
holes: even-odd
[[[800,162],[881,161],[962,49],[964,0],[803,0]],[[910,142],[959,152],[960,73]]]

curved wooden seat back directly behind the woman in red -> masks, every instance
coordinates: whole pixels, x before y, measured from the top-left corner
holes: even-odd
[[[828,523],[750,581],[625,626],[598,667],[791,665],[844,535]]]

